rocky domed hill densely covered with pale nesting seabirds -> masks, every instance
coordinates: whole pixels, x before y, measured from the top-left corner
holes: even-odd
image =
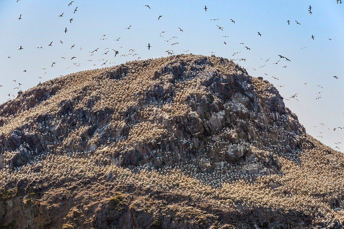
[[[224,58],[69,74],[0,106],[14,228],[344,226],[343,156]]]

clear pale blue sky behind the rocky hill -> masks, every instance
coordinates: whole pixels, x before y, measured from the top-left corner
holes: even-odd
[[[290,99],[284,103],[309,134],[344,152],[344,129],[337,128],[344,127],[344,0],[342,4],[336,0],[74,0],[68,6],[70,2],[0,1],[0,103],[12,95],[17,97],[18,90],[60,75],[138,57],[167,56],[166,50],[175,54],[189,50],[187,53],[236,59],[250,75],[273,83]],[[172,37],[177,38],[169,40]],[[174,42],[179,44],[171,45]],[[19,46],[23,49],[18,50]],[[116,57],[112,49],[119,51]],[[130,49],[138,55],[128,55]],[[235,52],[239,53],[233,56]],[[73,56],[76,58],[71,60]],[[246,61],[239,61],[241,58]],[[51,67],[53,62],[56,64]],[[298,101],[289,98],[295,93]]]

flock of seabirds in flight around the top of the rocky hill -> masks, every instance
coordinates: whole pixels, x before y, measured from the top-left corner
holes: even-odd
[[[21,1],[21,0],[17,0],[17,2],[19,2],[19,1]],[[74,4],[74,1],[71,1],[71,2],[69,2],[68,3],[68,7],[70,7],[70,6],[73,6]],[[337,4],[341,4],[342,3],[342,0],[336,0],[336,3]],[[149,5],[143,5],[144,7],[146,7],[146,8],[148,8],[149,10],[151,10],[151,7],[149,6]],[[207,6],[204,6],[204,11],[205,12],[207,12],[207,10],[208,10],[208,7]],[[313,7],[310,5],[309,6],[309,8],[308,8],[308,13],[309,14],[312,14],[313,13],[313,11],[312,11],[312,9],[313,9]],[[77,12],[78,12],[78,7],[76,6],[75,7],[75,9],[74,8],[72,8],[72,10],[71,10],[72,12],[73,12],[73,14],[76,14]],[[60,15],[58,15],[58,18],[61,18],[61,17],[64,17],[65,15],[64,15],[64,12],[62,12]],[[159,21],[159,20],[161,20],[161,18],[163,18],[163,15],[158,15],[158,17],[157,17],[157,20]],[[18,18],[18,20],[23,20],[24,18],[22,17],[22,14],[20,14],[19,15],[19,18]],[[210,19],[211,21],[217,21],[217,20],[219,20],[219,19]],[[231,23],[233,23],[233,24],[235,24],[235,20],[234,19],[229,19],[230,20],[230,22]],[[70,19],[68,19],[68,21],[69,21],[69,23],[70,24],[72,24],[72,22],[74,21],[74,19],[73,18],[70,18]],[[301,25],[301,23],[299,22],[299,21],[297,21],[297,20],[294,20],[295,21],[295,24],[296,25]],[[286,23],[288,23],[288,25],[290,25],[291,24],[291,21],[290,20],[287,20],[286,21]],[[125,28],[125,29],[127,29],[127,30],[130,30],[131,29],[131,26],[132,25],[129,25],[127,28]],[[221,31],[224,31],[224,27],[223,26],[219,26],[219,25],[217,25],[216,24],[216,27],[219,29],[219,30],[221,30]],[[182,29],[182,28],[180,28],[180,27],[178,27],[178,29],[179,29],[179,32],[183,32],[184,30]],[[67,33],[68,32],[68,30],[67,30],[67,26],[65,26],[65,28],[64,28],[64,30],[62,30],[62,32],[63,33]],[[164,37],[164,33],[165,33],[166,31],[162,31],[160,34],[159,34],[159,37]],[[257,35],[259,36],[259,37],[264,37],[264,35],[261,33],[261,32],[259,32],[259,31],[257,31]],[[100,37],[100,40],[107,40],[108,39],[108,34],[104,34],[104,35],[101,35],[101,37]],[[224,37],[224,38],[226,38],[226,37],[228,37],[227,35],[223,35],[222,37]],[[179,42],[171,42],[171,40],[173,40],[173,39],[177,39],[178,37],[176,37],[176,36],[173,36],[172,38],[169,38],[169,39],[167,39],[167,40],[164,40],[164,41],[166,41],[166,42],[169,42],[169,44],[173,47],[174,45],[178,45],[179,44]],[[312,34],[311,36],[310,36],[310,38],[312,39],[312,40],[315,40],[315,36]],[[119,38],[117,38],[117,39],[115,39],[115,42],[119,42],[120,41],[120,39],[121,39],[121,37],[119,37]],[[331,41],[332,39],[331,38],[329,38],[329,41]],[[54,41],[51,41],[49,44],[47,44],[47,46],[49,47],[49,46],[52,46],[53,45],[53,43],[54,43]],[[64,42],[62,41],[62,40],[60,40],[60,43],[61,44],[64,44]],[[226,41],[223,41],[223,44],[224,45],[226,45],[227,44],[227,42]],[[245,45],[244,43],[240,43],[241,45]],[[151,48],[152,48],[153,46],[150,44],[150,43],[148,43],[148,45],[147,45],[147,49],[148,50],[151,50]],[[71,45],[71,48],[70,49],[75,49],[75,44],[73,44],[73,45]],[[119,49],[118,50],[120,50],[122,48],[122,46],[119,46]],[[249,46],[244,46],[244,48],[247,50],[247,51],[250,51],[251,50],[251,48],[249,47]],[[305,48],[307,48],[307,46],[305,46],[305,47],[303,47],[303,48],[301,48],[301,49],[305,49]],[[24,47],[23,46],[18,46],[18,50],[23,50],[24,49]],[[39,47],[37,47],[37,49],[43,49],[43,46],[39,46]],[[80,47],[79,48],[79,50],[81,50],[82,48]],[[105,48],[104,49],[104,53],[102,53],[102,55],[101,56],[108,56],[108,55],[114,55],[114,57],[116,57],[118,54],[120,54],[120,56],[124,56],[124,57],[126,57],[126,56],[137,56],[137,59],[141,59],[141,57],[140,57],[140,55],[138,54],[138,53],[136,53],[136,51],[135,51],[135,49],[130,49],[129,50],[129,53],[125,53],[125,52],[121,52],[120,53],[120,51],[118,51],[117,49],[111,49],[110,50],[110,48]],[[95,53],[96,52],[98,52],[99,51],[99,48],[96,48],[96,49],[94,49],[94,50],[92,50],[92,51],[89,51],[89,53],[90,53],[90,56],[93,56],[93,55],[95,55]],[[110,51],[113,51],[113,53],[109,53]],[[165,51],[166,53],[167,53],[167,55],[173,55],[173,54],[175,54],[174,53],[174,51],[173,50],[171,50],[171,49],[169,49],[169,50],[166,50]],[[189,50],[186,50],[186,51],[183,51],[184,53],[187,53],[187,52],[189,52]],[[211,53],[215,53],[215,52],[211,52]],[[233,56],[235,56],[236,54],[239,54],[239,53],[241,53],[241,52],[234,52],[232,55]],[[285,57],[285,56],[283,56],[283,55],[278,55],[279,56],[279,59],[275,62],[275,63],[273,63],[273,64],[279,64],[280,63],[280,61],[282,60],[282,61],[284,61],[284,63],[282,64],[282,69],[283,68],[287,68],[288,67],[288,64],[286,64],[286,63],[288,63],[288,61],[289,62],[291,62],[291,60],[289,59],[289,58],[287,58],[287,57]],[[8,56],[8,58],[11,58],[11,56]],[[64,57],[64,56],[61,56],[60,57],[61,59],[66,59],[66,57]],[[77,58],[77,56],[75,55],[75,56],[71,56],[71,57],[69,57],[70,58],[70,60],[71,61],[74,61],[74,60],[77,60],[78,58]],[[246,59],[245,58],[238,58],[238,59],[232,59],[232,60],[234,60],[234,61],[244,61],[244,62],[246,62]],[[268,58],[266,61],[265,61],[265,63],[267,63],[268,61],[270,60],[270,58]],[[94,60],[92,60],[92,58],[90,58],[90,59],[88,59],[87,60],[88,62],[91,62],[91,61],[94,61]],[[100,62],[101,61],[101,62]],[[104,59],[104,58],[101,58],[101,59],[99,59],[98,60],[98,62],[100,62],[101,64],[100,64],[100,66],[104,66],[104,65],[107,65],[107,64],[114,64],[114,62],[108,62],[108,60],[106,60],[106,59]],[[54,61],[54,62],[52,62],[52,64],[51,64],[51,66],[50,67],[54,67],[54,66],[56,66],[56,64],[57,64],[58,62],[57,61]],[[73,63],[73,65],[75,65],[75,66],[80,66],[80,64],[81,63]],[[96,66],[97,64],[95,63],[95,64],[93,64],[93,66]],[[262,65],[262,66],[260,66],[259,68],[263,68],[264,66],[266,66],[266,64],[264,64],[264,65]],[[70,67],[70,66],[69,66]],[[67,67],[67,69],[69,68],[69,67]],[[47,68],[48,67],[44,67],[44,68],[42,68],[42,70],[47,70]],[[256,69],[254,69],[254,68],[252,68],[253,70],[256,70]],[[23,70],[23,72],[27,72],[26,70]],[[43,75],[45,75],[46,74],[46,72],[45,73],[43,73]],[[268,75],[268,74],[266,74],[265,73],[265,75]],[[338,77],[337,75],[335,75],[335,76],[332,76],[334,79],[336,79],[336,80],[339,80],[339,78],[340,77]],[[39,79],[42,79],[42,76],[39,76],[38,77]],[[272,76],[272,78],[273,79],[275,79],[275,80],[279,80],[277,77],[275,77],[275,76]],[[18,89],[18,90],[20,90],[21,89],[21,83],[19,83],[19,82],[17,82],[16,80],[13,80],[13,82],[16,82],[16,83],[18,83],[18,85],[17,86],[15,86],[15,87],[13,87],[13,89]],[[307,85],[308,84],[308,82],[305,82],[304,83],[305,85]],[[2,87],[3,85],[0,85],[0,87]],[[284,85],[277,85],[278,87],[283,87]],[[322,86],[322,85],[317,85],[318,87],[319,87],[319,89],[323,89],[324,87]],[[21,90],[20,90],[21,91]],[[318,93],[316,93],[316,98],[315,98],[315,100],[320,100],[321,98],[322,98],[322,93],[323,93],[324,91],[319,91]],[[9,94],[7,94],[9,97],[8,97],[8,100],[10,100],[11,98],[14,98],[15,97],[15,95],[13,95],[13,94],[11,94],[11,93],[9,93]],[[294,100],[297,100],[297,101],[299,101],[298,100],[298,93],[295,93],[295,94],[293,94],[293,95],[291,95],[289,98],[285,98],[286,100],[290,100],[290,99],[294,99]],[[339,127],[338,127],[339,128]],[[322,137],[322,136],[318,136],[318,137]],[[338,148],[338,147],[337,147]],[[338,148],[339,149],[339,148]]]

